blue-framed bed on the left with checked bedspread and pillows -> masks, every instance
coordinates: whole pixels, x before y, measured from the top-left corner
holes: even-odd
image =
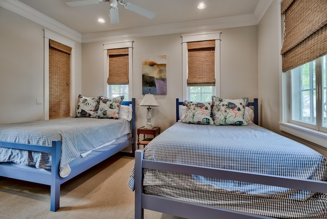
[[[86,108],[91,105],[87,98],[79,98]],[[121,101],[109,105],[121,112],[124,106],[126,115],[119,119],[89,118],[85,108],[78,108],[78,118],[0,125],[0,176],[50,185],[50,210],[58,210],[61,184],[117,153],[134,157],[135,99]],[[103,103],[99,112],[107,116]],[[131,152],[122,152],[129,146]]]

